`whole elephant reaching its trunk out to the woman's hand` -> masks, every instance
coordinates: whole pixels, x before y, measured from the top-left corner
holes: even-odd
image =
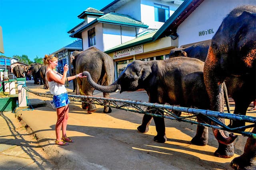
[[[94,88],[102,92],[115,92],[117,89],[120,89],[120,93],[122,93],[142,88],[146,90],[150,103],[167,103],[182,107],[193,106],[199,109],[208,109],[210,101],[204,85],[203,68],[204,62],[188,57],[148,62],[135,60],[128,64],[118,79],[109,86],[101,86],[94,82],[89,72],[85,71],[83,74],[87,76],[88,82]],[[224,107],[224,102],[222,104]],[[163,113],[159,114],[163,115]],[[157,131],[157,135],[153,140],[164,143],[167,140],[164,118],[154,116],[153,119]],[[198,116],[197,119],[199,122],[210,122],[204,116]],[[151,120],[152,116],[145,114],[142,119],[142,125],[137,128],[138,131],[146,133]],[[227,132],[217,129],[213,130],[219,142],[219,148],[214,154],[225,158],[233,156],[234,152],[229,152],[229,150],[233,148],[232,142],[236,139],[236,135],[230,134],[230,137],[224,136],[225,139],[222,139],[222,134]],[[206,145],[208,142],[208,128],[198,126],[196,132],[197,134],[191,142],[196,145]],[[222,141],[225,140],[230,140],[229,145],[222,144]]]

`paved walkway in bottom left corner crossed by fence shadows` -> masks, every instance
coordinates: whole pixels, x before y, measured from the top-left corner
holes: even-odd
[[[0,170],[58,169],[25,125],[11,111],[0,113]]]

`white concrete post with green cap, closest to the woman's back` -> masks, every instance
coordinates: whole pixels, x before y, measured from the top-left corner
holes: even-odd
[[[26,78],[17,78],[19,107],[27,107],[26,90],[22,88],[26,84]]]

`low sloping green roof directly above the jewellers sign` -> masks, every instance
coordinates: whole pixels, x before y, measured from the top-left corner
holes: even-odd
[[[155,35],[156,32],[157,32],[157,30],[152,31],[150,33],[146,33],[146,34],[144,34],[144,35],[142,35],[140,37],[137,37],[135,39],[132,39],[130,41],[122,43],[122,44],[120,44],[118,46],[115,46],[115,47],[113,47],[111,49],[108,49],[108,50],[106,50],[104,52],[105,53],[112,53],[114,51],[118,51],[119,49],[121,50],[121,49],[125,49],[127,47],[130,47],[131,44],[132,44],[132,46],[136,46],[136,45],[143,44],[144,42],[152,41],[152,38],[153,38],[153,36]]]

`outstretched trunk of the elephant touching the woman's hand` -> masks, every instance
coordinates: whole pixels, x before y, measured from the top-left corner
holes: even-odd
[[[99,90],[101,92],[112,93],[112,92],[115,92],[116,90],[120,89],[120,85],[117,84],[117,80],[108,86],[102,86],[102,85],[94,82],[94,80],[92,80],[91,74],[88,71],[84,71],[83,76],[87,76],[87,80],[90,83],[90,85],[93,88],[95,88],[96,90]]]

